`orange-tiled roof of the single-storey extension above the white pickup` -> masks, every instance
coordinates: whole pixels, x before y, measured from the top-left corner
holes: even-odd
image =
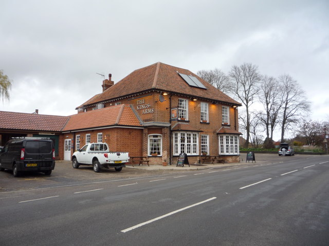
[[[63,131],[115,125],[141,127],[132,108],[122,104],[71,115]]]

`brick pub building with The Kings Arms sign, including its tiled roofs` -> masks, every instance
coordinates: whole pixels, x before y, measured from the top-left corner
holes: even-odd
[[[239,162],[241,104],[189,70],[156,63],[116,84],[110,74],[102,88],[63,119],[59,159],[70,160],[88,142],[106,142],[111,151],[148,156],[150,165],[175,164],[182,152],[190,163],[201,155]]]

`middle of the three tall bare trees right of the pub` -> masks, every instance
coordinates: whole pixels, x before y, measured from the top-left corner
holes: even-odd
[[[264,145],[266,149],[273,148],[273,132],[278,124],[279,113],[282,106],[282,100],[279,95],[281,88],[278,86],[276,78],[262,76],[259,91],[259,101],[263,105],[263,110],[259,112],[258,117],[264,125],[266,138]]]

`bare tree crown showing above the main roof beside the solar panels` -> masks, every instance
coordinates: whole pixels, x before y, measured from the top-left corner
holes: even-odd
[[[196,74],[218,90],[224,93],[229,91],[229,77],[221,69],[200,70]]]

